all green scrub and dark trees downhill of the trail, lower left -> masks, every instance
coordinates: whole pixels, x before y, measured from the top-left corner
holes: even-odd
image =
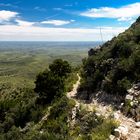
[[[35,91],[7,89],[0,94],[1,140],[69,140],[109,137],[117,124],[79,109],[71,126],[75,101],[65,95],[77,80],[77,71],[67,61],[55,60],[36,77]],[[99,133],[100,132],[100,133]]]

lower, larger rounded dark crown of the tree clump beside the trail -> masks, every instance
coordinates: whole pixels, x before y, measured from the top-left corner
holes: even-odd
[[[60,96],[64,91],[63,79],[51,71],[40,73],[35,84],[35,92],[38,93],[42,102],[51,102],[56,95]]]

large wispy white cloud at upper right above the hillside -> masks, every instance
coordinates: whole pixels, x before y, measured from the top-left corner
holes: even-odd
[[[140,2],[119,8],[100,7],[89,9],[80,15],[91,18],[116,18],[119,21],[128,21],[140,15]]]

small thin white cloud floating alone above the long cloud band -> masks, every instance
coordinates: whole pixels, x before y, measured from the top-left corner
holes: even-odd
[[[74,20],[46,20],[46,21],[42,21],[42,24],[52,24],[55,26],[61,26],[61,25],[66,25],[69,24],[71,22],[74,22]]]

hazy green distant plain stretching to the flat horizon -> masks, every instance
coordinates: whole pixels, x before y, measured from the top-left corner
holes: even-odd
[[[57,58],[80,65],[100,42],[0,42],[0,85],[33,87],[36,75]]]

